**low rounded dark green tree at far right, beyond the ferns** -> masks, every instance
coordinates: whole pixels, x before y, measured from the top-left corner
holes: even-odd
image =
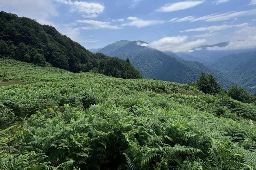
[[[248,94],[247,90],[241,86],[238,87],[237,84],[233,84],[232,86],[230,86],[230,88],[228,89],[228,96],[240,102],[252,102],[252,97],[250,94]]]

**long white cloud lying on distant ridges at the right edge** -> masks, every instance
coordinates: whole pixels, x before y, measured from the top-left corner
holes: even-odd
[[[228,49],[247,49],[256,48],[256,36],[249,36],[244,41],[232,41],[225,47],[207,47],[207,50],[228,50]]]

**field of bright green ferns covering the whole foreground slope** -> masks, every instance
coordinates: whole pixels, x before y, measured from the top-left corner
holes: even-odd
[[[256,170],[256,106],[0,59],[1,170]]]

